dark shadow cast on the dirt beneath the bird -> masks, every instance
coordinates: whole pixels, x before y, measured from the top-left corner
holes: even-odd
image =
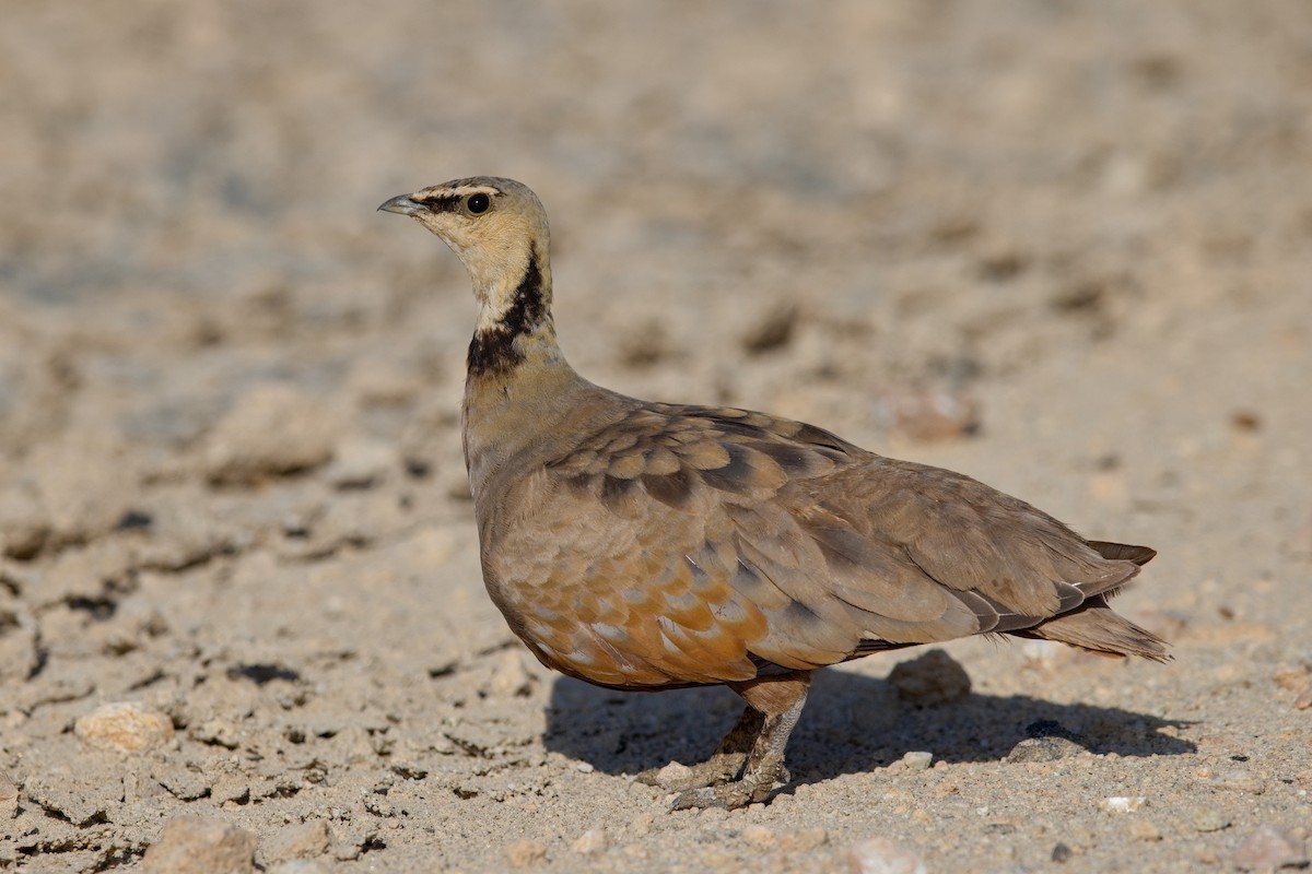
[[[558,677],[544,743],[609,774],[695,764],[710,756],[741,709],[741,698],[724,688],[646,694]],[[998,761],[1021,740],[1043,734],[1076,739],[1099,755],[1178,756],[1197,747],[1161,729],[1183,725],[1019,694],[971,693],[922,708],[899,700],[887,680],[819,671],[789,743],[789,768],[796,782],[819,782],[887,765],[911,751],[947,763]]]

